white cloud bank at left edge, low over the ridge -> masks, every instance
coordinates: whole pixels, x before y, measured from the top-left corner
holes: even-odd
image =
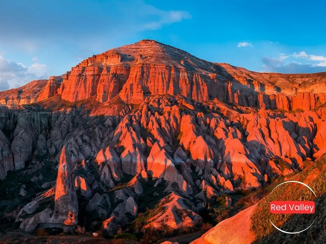
[[[27,67],[0,56],[0,90],[19,87],[32,80],[47,78],[46,65],[35,63]]]

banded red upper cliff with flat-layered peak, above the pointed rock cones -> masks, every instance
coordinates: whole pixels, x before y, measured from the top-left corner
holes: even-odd
[[[139,104],[150,95],[182,95],[204,102],[218,98],[266,109],[314,109],[325,102],[326,74],[257,73],[214,64],[151,40],[93,55],[60,77],[38,82],[33,95],[0,93],[2,104],[18,106],[61,96],[69,102],[119,96]],[[31,89],[32,84],[29,85]],[[32,87],[33,88],[33,87]],[[21,91],[19,91],[21,93]]]

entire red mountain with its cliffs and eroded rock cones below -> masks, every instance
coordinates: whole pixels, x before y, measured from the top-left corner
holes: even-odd
[[[143,40],[0,92],[1,223],[145,243],[200,229],[326,153],[325,84]]]

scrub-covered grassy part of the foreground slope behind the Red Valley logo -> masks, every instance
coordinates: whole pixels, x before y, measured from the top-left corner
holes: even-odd
[[[267,195],[258,203],[251,217],[251,230],[256,235],[256,243],[324,243],[320,241],[323,238],[323,222],[326,217],[326,157],[315,161],[291,178],[284,179],[286,180],[305,182],[314,190],[317,198],[298,184],[284,184]],[[315,200],[316,211],[312,215],[273,215],[268,211],[269,202],[273,200]],[[277,231],[269,220],[281,229],[293,232],[308,227],[314,220],[315,223],[307,231],[291,235]]]

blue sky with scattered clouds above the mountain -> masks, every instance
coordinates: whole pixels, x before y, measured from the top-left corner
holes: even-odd
[[[325,12],[324,0],[2,0],[0,90],[142,39],[258,72],[322,72]]]

